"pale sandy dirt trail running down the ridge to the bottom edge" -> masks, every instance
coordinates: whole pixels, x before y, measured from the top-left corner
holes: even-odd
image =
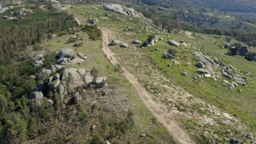
[[[102,28],[101,29],[103,32],[103,41],[102,41],[102,46],[103,46],[103,52],[106,53],[108,59],[113,65],[117,65],[118,61],[113,55],[113,53],[110,51],[108,44],[110,40],[110,32],[107,29]],[[144,89],[137,81],[137,79],[132,76],[132,74],[129,73],[129,71],[125,70],[125,73],[123,75],[128,79],[132,85],[136,88],[139,97],[142,99],[143,103],[148,107],[148,109],[153,113],[153,115],[158,119],[159,122],[163,123],[164,126],[167,128],[167,130],[170,132],[170,134],[176,139],[178,142],[183,143],[183,144],[191,144],[194,143],[185,132],[177,126],[177,124],[173,121],[171,121],[170,118],[166,117],[162,110],[160,109],[160,105],[155,103],[146,89]]]

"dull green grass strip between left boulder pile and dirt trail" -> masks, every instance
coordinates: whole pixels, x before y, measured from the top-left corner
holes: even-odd
[[[147,109],[147,107],[144,106],[143,102],[138,98],[138,94],[136,93],[136,90],[131,85],[131,83],[127,81],[125,77],[123,77],[123,75],[119,74],[117,71],[114,70],[113,65],[108,61],[107,57],[103,54],[101,50],[101,40],[92,41],[84,32],[79,32],[78,34],[85,38],[84,40],[79,41],[84,43],[84,46],[82,47],[75,48],[72,46],[74,43],[66,44],[66,41],[69,39],[69,37],[71,37],[71,35],[62,35],[61,37],[55,37],[53,40],[50,40],[49,43],[42,44],[42,46],[44,46],[44,50],[39,52],[37,51],[36,53],[59,52],[61,49],[63,49],[63,47],[69,47],[75,52],[82,52],[88,54],[89,56],[91,56],[88,61],[80,65],[71,65],[69,67],[85,69],[92,69],[96,67],[100,70],[101,75],[108,77],[108,93],[111,94],[111,98],[106,98],[106,100],[109,101],[113,99],[113,104],[110,107],[111,109],[113,109],[113,111],[118,112],[115,114],[113,113],[112,115],[122,118],[124,117],[124,113],[127,110],[132,110],[135,113],[134,117],[136,122],[136,128],[132,130],[132,141],[144,141],[146,143],[160,143],[160,141],[165,141],[166,143],[176,143],[172,140],[172,137],[168,134],[167,130],[162,127],[160,123],[151,120],[153,119],[152,114]],[[83,95],[83,97],[86,96]],[[98,105],[102,105],[103,109],[106,106],[100,101],[97,102],[97,99],[96,103],[98,103]],[[79,133],[78,130],[76,132]],[[76,132],[73,131],[74,134]],[[147,133],[149,135],[152,135],[154,137],[154,140],[138,139],[139,134],[141,133]],[[79,135],[78,140],[80,142],[84,142],[83,135],[84,134]],[[124,143],[125,140],[120,140],[119,142]]]

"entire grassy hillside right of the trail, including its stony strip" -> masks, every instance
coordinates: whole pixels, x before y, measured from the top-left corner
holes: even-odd
[[[171,34],[162,31],[158,31],[155,28],[150,27],[150,22],[143,22],[142,19],[123,16],[119,14],[114,14],[109,11],[100,9],[100,5],[74,5],[74,9],[70,9],[71,13],[75,14],[82,22],[86,22],[86,19],[97,18],[100,21],[97,25],[101,27],[106,27],[111,32],[113,38],[123,41],[123,43],[129,44],[127,48],[121,48],[119,46],[112,46],[110,49],[115,53],[118,61],[126,69],[129,69],[132,74],[134,74],[139,82],[143,83],[144,87],[153,96],[153,99],[164,105],[170,105],[168,102],[168,97],[165,95],[172,95],[168,91],[168,88],[163,87],[182,87],[189,94],[193,95],[185,98],[183,92],[179,95],[180,98],[174,100],[173,105],[178,107],[187,107],[189,111],[184,113],[197,113],[198,115],[205,115],[211,117],[217,122],[217,125],[211,126],[208,124],[203,124],[196,118],[187,118],[183,116],[177,116],[177,121],[180,121],[187,129],[191,136],[195,138],[198,143],[204,143],[203,131],[211,131],[214,135],[217,135],[218,139],[214,140],[219,142],[224,142],[223,137],[237,137],[237,139],[245,140],[244,135],[240,135],[238,132],[243,131],[243,133],[255,133],[255,62],[249,62],[240,56],[229,56],[226,55],[227,49],[221,49],[218,45],[223,46],[225,43],[225,37],[218,38],[216,35],[200,34],[205,39],[197,37],[188,37],[183,34],[183,31],[179,34]],[[94,10],[91,7],[97,7]],[[95,14],[88,15],[88,11],[95,11]],[[111,16],[104,16],[105,13]],[[125,27],[130,26],[133,31],[124,31]],[[141,27],[148,27],[149,29],[143,29]],[[142,43],[147,40],[148,35],[154,34],[158,35],[159,38],[164,40],[159,41],[154,46],[141,48],[138,45],[131,44],[132,40],[138,39]],[[246,76],[248,78],[248,86],[242,87],[239,85],[236,89],[230,89],[229,87],[223,86],[223,80],[228,80],[225,77],[220,76],[220,79],[214,81],[213,79],[197,79],[194,80],[193,76],[197,67],[196,57],[194,57],[193,52],[195,49],[193,47],[178,47],[178,61],[181,64],[173,64],[170,59],[162,58],[162,52],[167,51],[171,47],[167,44],[167,40],[184,40],[187,44],[190,43],[195,47],[199,48],[202,52],[211,53],[212,58],[217,57],[226,64],[234,65],[238,71],[237,73],[241,76],[246,76],[246,71],[250,71],[252,75]],[[231,41],[233,43],[235,41]],[[109,41],[110,43],[110,41]],[[155,49],[159,50],[156,51]],[[254,49],[251,47],[250,49]],[[167,67],[167,64],[171,63],[172,67]],[[181,73],[186,72],[188,76],[182,76]],[[159,77],[163,75],[165,78]],[[165,80],[167,79],[167,80]],[[230,80],[228,80],[230,81]],[[231,82],[231,81],[230,81]],[[175,88],[174,88],[175,89]],[[242,89],[242,92],[237,92],[238,89]],[[182,90],[181,90],[182,91]],[[173,92],[174,93],[174,92]],[[177,94],[175,92],[175,94]],[[173,95],[173,99],[176,97]],[[183,100],[183,97],[187,100]],[[226,119],[221,115],[210,114],[211,110],[206,110],[204,104],[196,104],[195,99],[200,99],[205,101],[207,104],[214,105],[220,109],[220,113],[228,112],[233,117],[229,119],[231,125],[225,124],[223,121]],[[172,100],[171,100],[172,101]],[[186,102],[187,101],[187,102]],[[189,102],[190,101],[190,102]],[[172,105],[172,103],[171,103]],[[201,109],[203,107],[203,109]],[[207,107],[207,106],[206,106]],[[172,107],[167,106],[170,109],[168,112],[172,112]],[[168,113],[167,112],[167,113]],[[174,116],[175,117],[175,116]],[[196,129],[196,131],[195,131]],[[231,132],[230,132],[231,130]],[[228,132],[229,131],[229,132]],[[229,133],[234,134],[230,136]],[[212,137],[212,136],[210,136]],[[209,140],[210,141],[210,140]]]

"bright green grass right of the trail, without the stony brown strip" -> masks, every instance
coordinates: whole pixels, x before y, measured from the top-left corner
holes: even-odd
[[[97,6],[97,5],[94,5]],[[75,5],[75,9],[77,9],[78,16],[85,16],[87,18],[96,18],[96,15],[100,17],[104,16],[106,11],[101,9],[91,9],[91,6],[84,6],[84,5]],[[95,11],[95,15],[88,15],[88,11]],[[122,15],[114,14],[111,12],[107,12],[112,16],[107,17],[109,20],[102,20],[100,19],[100,25],[104,27],[108,27],[112,31],[114,31],[117,35],[120,35],[120,39],[123,39],[125,43],[130,44],[132,39],[139,39],[145,41],[147,39],[147,32],[146,31],[136,31],[132,33],[132,37],[124,36],[123,29],[126,26],[131,26],[132,28],[140,29],[140,26],[145,26],[143,23],[139,22],[139,19],[131,17],[125,17]],[[117,19],[119,17],[119,19]],[[123,20],[124,18],[124,20]],[[128,20],[131,19],[131,20]],[[108,22],[109,21],[109,22]],[[200,47],[202,51],[210,52],[213,56],[221,59],[224,63],[228,63],[234,65],[238,71],[240,72],[241,76],[245,76],[246,71],[256,71],[255,62],[248,62],[246,59],[240,56],[228,56],[225,53],[228,51],[226,49],[220,49],[214,43],[224,43],[223,38],[216,38],[216,35],[204,35],[204,37],[208,38],[208,40],[202,40],[199,38],[191,39],[188,37],[184,37],[184,35],[174,35],[174,34],[165,34],[160,33],[161,37],[165,40],[167,39],[174,39],[179,40],[183,39],[186,43],[191,43],[196,47]],[[166,37],[166,36],[169,37]],[[209,40],[211,39],[211,40]],[[130,44],[131,45],[131,44]],[[158,47],[160,51],[154,51],[154,49]],[[254,76],[247,76],[249,81],[249,86],[246,88],[242,88],[238,86],[236,89],[229,89],[229,87],[224,87],[222,85],[221,80],[217,82],[213,81],[212,79],[203,79],[203,80],[193,80],[193,74],[197,69],[194,65],[196,64],[195,59],[191,61],[191,65],[185,64],[186,59],[183,58],[184,55],[188,55],[192,57],[192,54],[189,52],[189,49],[181,49],[183,52],[180,54],[179,61],[182,61],[183,64],[177,65],[175,67],[166,67],[168,63],[171,63],[168,59],[163,59],[161,52],[166,51],[171,46],[166,45],[166,41],[164,43],[157,43],[155,46],[146,47],[145,49],[140,48],[128,48],[121,49],[118,46],[113,47],[113,51],[118,53],[119,61],[127,67],[131,67],[131,72],[135,75],[141,75],[141,69],[144,68],[141,64],[138,66],[134,66],[132,63],[151,63],[153,64],[154,68],[159,69],[170,79],[171,81],[175,81],[176,85],[182,86],[185,88],[189,93],[195,95],[196,97],[202,98],[206,100],[208,103],[212,105],[216,105],[220,107],[220,109],[232,113],[235,117],[241,119],[243,123],[245,123],[249,129],[245,129],[245,131],[254,131],[256,123],[256,115],[255,115],[255,79]],[[252,48],[251,48],[252,49]],[[141,52],[141,57],[133,57],[133,52]],[[188,73],[188,77],[183,77],[180,74],[185,71]],[[139,76],[138,76],[139,77]],[[224,77],[222,78],[226,80]],[[190,85],[188,85],[190,83]],[[214,86],[212,86],[214,84]],[[237,89],[242,89],[242,93],[238,93]],[[226,128],[227,129],[227,128]]]

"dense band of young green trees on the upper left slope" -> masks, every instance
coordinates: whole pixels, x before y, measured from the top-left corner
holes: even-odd
[[[55,17],[35,21],[30,25],[3,28],[0,32],[0,64],[19,57],[19,52],[26,51],[30,45],[41,43],[49,33],[63,31],[72,26],[78,26],[74,17],[60,13]]]

